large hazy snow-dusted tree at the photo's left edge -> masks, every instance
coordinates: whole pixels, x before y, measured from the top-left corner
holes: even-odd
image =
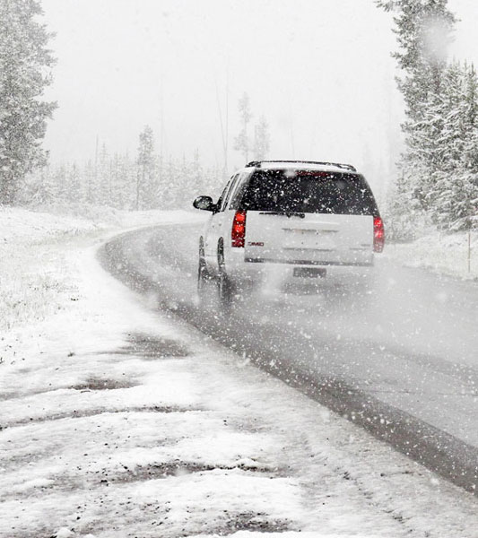
[[[41,14],[37,0],[0,0],[0,204],[14,204],[46,162],[41,141],[56,103],[42,100],[54,58]]]

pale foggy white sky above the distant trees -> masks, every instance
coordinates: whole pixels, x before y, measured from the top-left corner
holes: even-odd
[[[48,98],[59,108],[46,141],[54,162],[90,158],[97,138],[110,152],[135,154],[148,124],[165,158],[197,150],[204,165],[222,164],[229,81],[230,170],[244,164],[232,146],[247,91],[252,124],[261,115],[269,121],[271,158],[351,161],[379,190],[392,171],[403,105],[391,16],[373,0],[42,5],[56,31]],[[478,5],[449,5],[462,19],[451,54],[478,63]]]

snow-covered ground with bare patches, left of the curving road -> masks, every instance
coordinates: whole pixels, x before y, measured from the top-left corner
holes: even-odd
[[[474,537],[474,497],[95,259],[195,219],[0,210],[0,536]]]

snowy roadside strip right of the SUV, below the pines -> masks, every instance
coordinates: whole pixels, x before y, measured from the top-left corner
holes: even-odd
[[[478,232],[429,233],[412,243],[388,243],[383,256],[409,267],[478,280]],[[469,259],[469,261],[468,261]]]

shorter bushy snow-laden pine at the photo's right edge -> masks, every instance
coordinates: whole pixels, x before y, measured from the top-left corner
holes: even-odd
[[[462,229],[477,213],[477,87],[473,66],[452,63],[440,94],[430,94],[423,112],[425,128],[420,131],[417,123],[422,140],[415,141],[412,160],[422,162],[423,169],[415,176],[422,181],[421,196],[415,198],[444,229]]]

